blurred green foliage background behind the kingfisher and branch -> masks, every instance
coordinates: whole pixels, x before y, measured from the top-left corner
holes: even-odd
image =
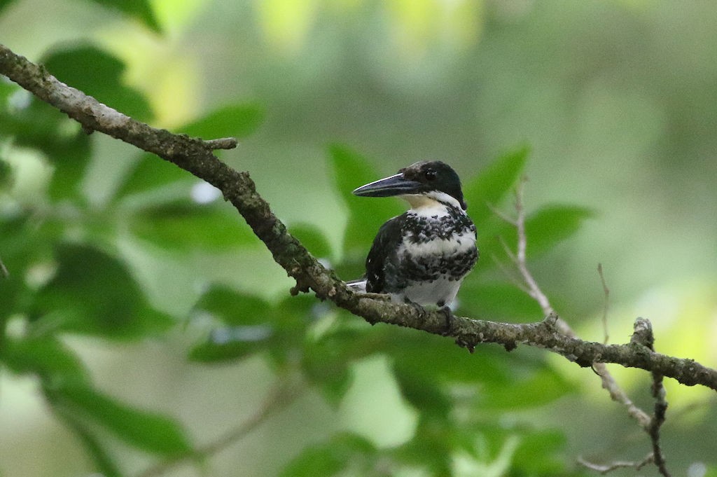
[[[513,237],[486,205],[511,213],[525,172],[531,266],[566,321],[602,341],[602,263],[611,341],[645,316],[658,350],[708,366],[716,23],[709,1],[0,1],[0,42],[60,80],[153,126],[237,136],[222,159],[342,277],[402,210],[348,192],[442,159],[479,226],[460,313],[540,319],[499,270]],[[211,187],[4,80],[0,258],[1,476],[188,456],[162,470],[568,476],[591,475],[578,455],[650,450],[597,377],[546,352],[469,355],[290,298]],[[649,410],[646,373],[614,372]],[[712,393],[667,385],[670,467],[714,473]]]

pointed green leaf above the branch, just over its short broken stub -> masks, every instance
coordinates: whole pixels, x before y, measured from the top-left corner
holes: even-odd
[[[245,138],[254,133],[262,121],[264,113],[256,105],[228,105],[179,128],[179,131],[204,139]]]

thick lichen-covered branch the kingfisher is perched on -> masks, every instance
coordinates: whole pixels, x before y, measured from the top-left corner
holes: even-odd
[[[100,131],[156,154],[217,187],[265,243],[274,260],[296,280],[292,293],[313,290],[319,298],[331,300],[369,323],[389,323],[445,334],[444,313],[374,300],[351,291],[287,232],[269,204],[257,194],[254,181],[247,172],[230,168],[212,154],[216,143],[173,134],[136,121],[65,85],[44,67],[15,55],[2,45],[0,74],[75,119],[86,130]],[[671,377],[688,386],[701,384],[717,390],[717,371],[691,359],[656,353],[642,344],[604,345],[582,341],[561,333],[560,323],[564,322],[559,321],[555,313],[538,323],[523,324],[455,317],[450,336],[467,347],[480,343],[497,343],[507,349],[513,349],[517,344],[538,346],[561,354],[582,367],[591,367],[593,363],[621,364]]]

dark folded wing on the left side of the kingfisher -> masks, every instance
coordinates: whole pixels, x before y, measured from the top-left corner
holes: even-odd
[[[397,250],[402,242],[401,217],[394,217],[381,225],[366,258],[366,291],[387,293],[386,265],[397,265]]]

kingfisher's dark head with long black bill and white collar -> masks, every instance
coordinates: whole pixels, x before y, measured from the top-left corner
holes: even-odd
[[[412,207],[421,207],[428,202],[457,202],[462,209],[467,207],[458,174],[441,161],[411,164],[401,169],[398,174],[355,189],[353,194],[361,197],[399,196],[406,199]]]

